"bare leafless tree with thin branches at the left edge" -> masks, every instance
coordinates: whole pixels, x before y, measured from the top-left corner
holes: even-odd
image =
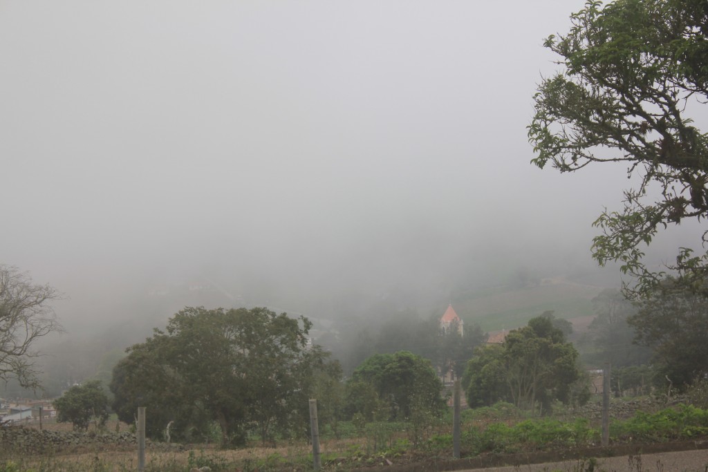
[[[0,265],[0,380],[16,379],[24,388],[39,386],[32,347],[38,338],[61,330],[50,302],[59,294],[33,284],[25,272]]]

